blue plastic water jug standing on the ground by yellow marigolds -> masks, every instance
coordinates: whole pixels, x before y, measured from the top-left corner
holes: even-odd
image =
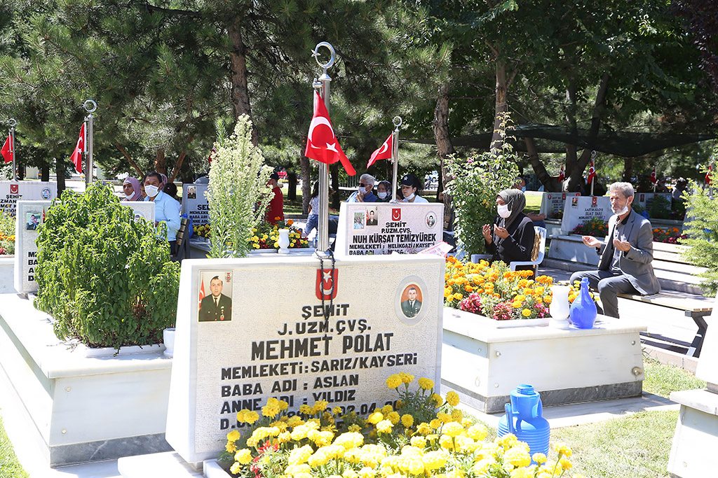
[[[498,436],[508,433],[516,435],[519,441],[526,441],[534,453],[549,453],[551,427],[544,419],[541,396],[533,386],[519,385],[511,391],[511,403],[506,403],[506,414],[498,421]]]

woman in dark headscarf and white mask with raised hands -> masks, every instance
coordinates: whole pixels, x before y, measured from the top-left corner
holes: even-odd
[[[536,231],[533,223],[523,214],[526,207],[526,196],[520,189],[504,189],[496,196],[498,216],[491,226],[484,224],[482,233],[486,242],[487,254],[492,254],[491,261],[530,261],[533,240]],[[518,269],[532,269],[531,266]]]

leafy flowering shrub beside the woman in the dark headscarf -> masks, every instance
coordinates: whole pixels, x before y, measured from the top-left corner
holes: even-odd
[[[503,118],[508,127],[508,115]],[[501,129],[505,132],[505,128]],[[505,133],[504,133],[505,134]],[[496,216],[496,195],[513,186],[518,176],[513,146],[504,138],[501,148],[491,148],[468,158],[452,157],[447,161],[447,191],[452,195],[456,211],[459,243],[468,254],[484,254],[481,228],[493,224]]]

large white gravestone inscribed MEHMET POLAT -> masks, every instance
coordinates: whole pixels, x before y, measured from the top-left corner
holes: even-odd
[[[215,281],[216,307],[207,286]],[[411,289],[410,308],[402,302]],[[238,411],[261,413],[271,397],[294,412],[326,400],[368,414],[396,400],[392,373],[438,388],[443,292],[444,259],[429,254],[344,257],[333,272],[317,257],[182,261],[168,443],[196,464],[243,429]]]

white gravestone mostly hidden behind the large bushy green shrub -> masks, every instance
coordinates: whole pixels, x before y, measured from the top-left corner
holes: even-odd
[[[37,292],[34,268],[37,266],[37,228],[45,221],[52,201],[17,201],[15,218],[15,290],[21,294]],[[152,201],[121,201],[134,210],[135,218],[144,218],[154,224]]]

